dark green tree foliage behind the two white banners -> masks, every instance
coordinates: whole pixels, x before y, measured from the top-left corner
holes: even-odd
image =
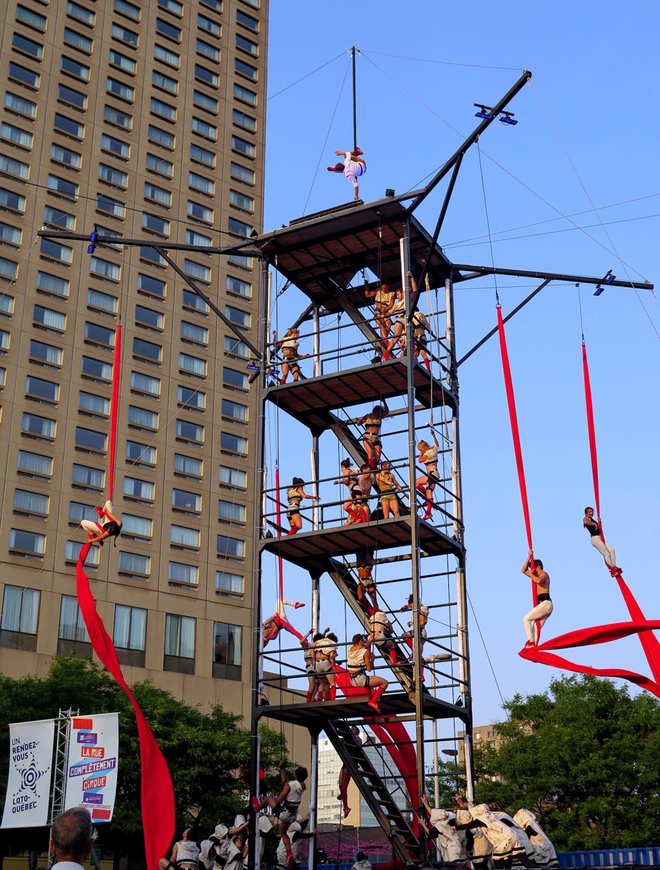
[[[250,733],[242,718],[214,706],[210,713],[183,704],[150,682],[131,686],[163,756],[174,786],[177,834],[193,827],[203,838],[218,821],[231,825],[243,806],[247,786],[243,772],[250,765]],[[90,659],[53,659],[45,679],[10,679],[0,674],[0,727],[9,733],[10,722],[52,719],[60,709],[80,713],[119,713],[119,766],[113,820],[99,826],[99,846],[118,859],[143,854],[140,812],[140,748],[132,706],[114,679]],[[270,769],[265,786],[277,788],[277,762],[287,759],[279,733],[262,726],[261,760]],[[9,737],[7,738],[9,740]],[[0,790],[5,793],[9,746],[0,752]],[[277,780],[276,780],[277,778]],[[37,846],[46,847],[46,836]],[[24,831],[0,832],[0,849],[25,848]]]

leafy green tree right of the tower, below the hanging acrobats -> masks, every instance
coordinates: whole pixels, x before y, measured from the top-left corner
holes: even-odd
[[[505,741],[475,753],[477,800],[537,815],[557,850],[651,845],[660,818],[660,702],[592,676],[504,704]]]

